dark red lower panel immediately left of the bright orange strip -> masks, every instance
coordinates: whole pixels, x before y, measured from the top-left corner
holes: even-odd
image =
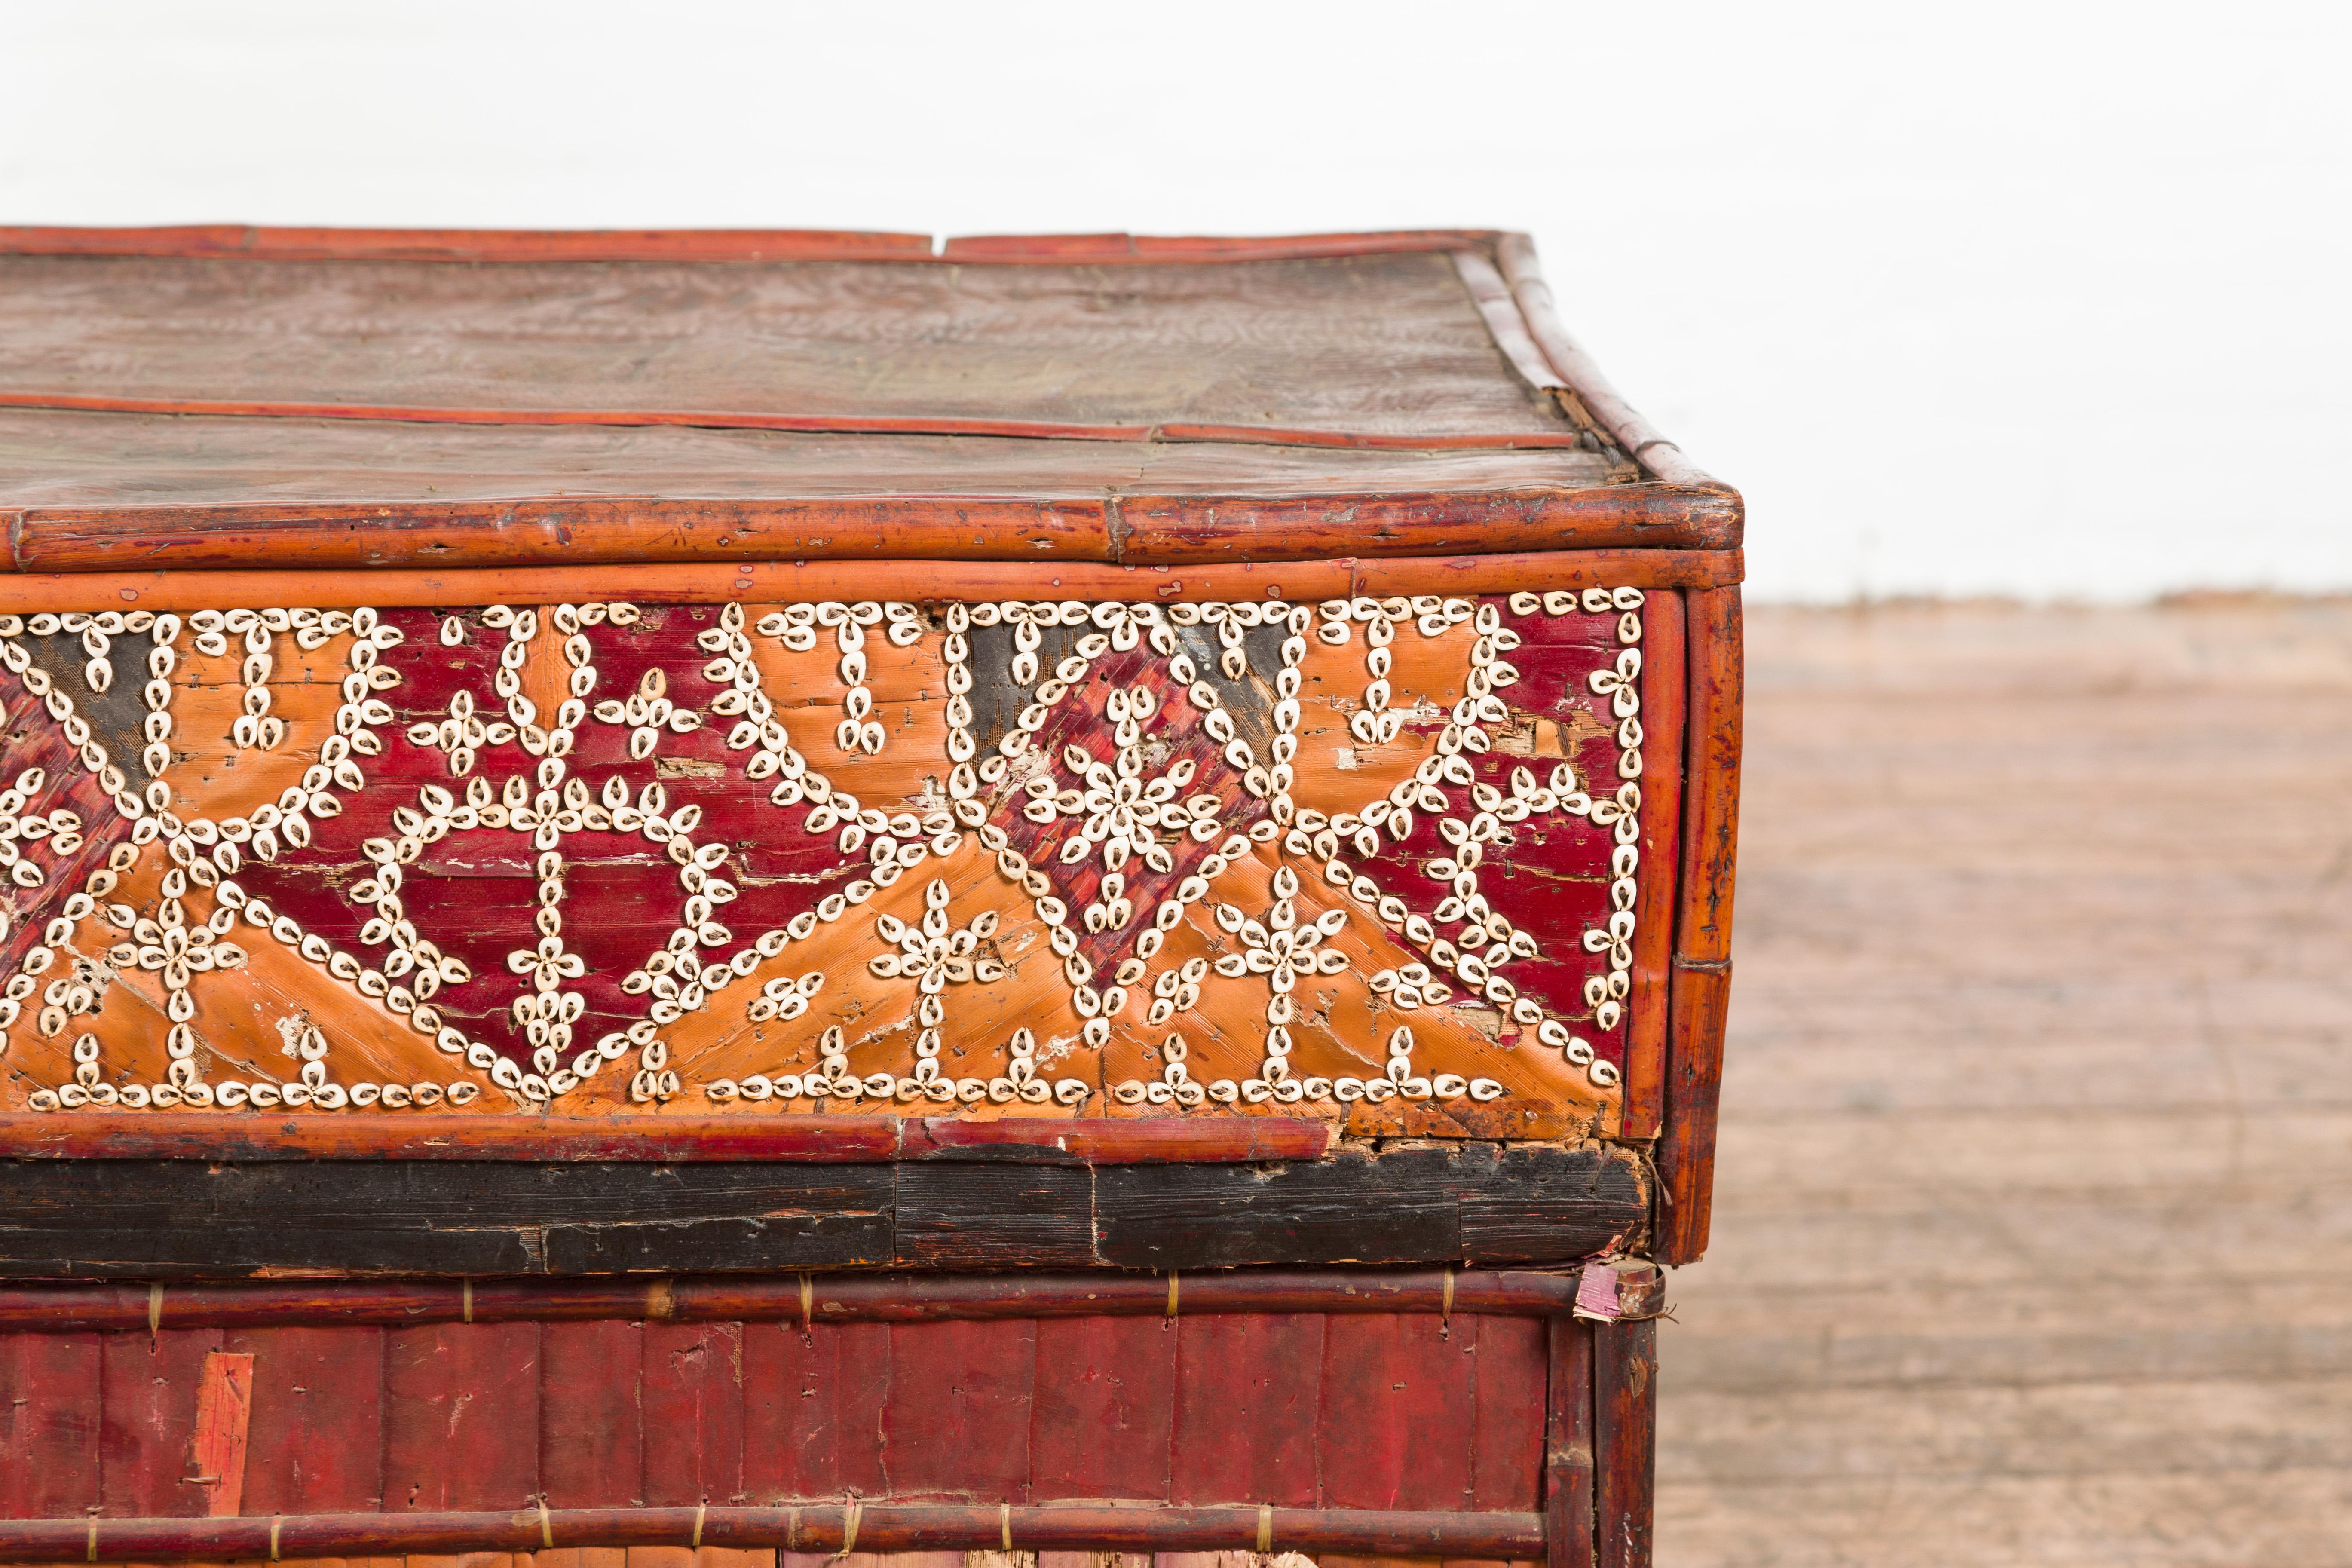
[[[212,1497],[188,1486],[195,1465],[195,1392],[205,1356],[221,1347],[219,1328],[111,1333],[101,1347],[99,1502],[115,1519],[181,1519]]]

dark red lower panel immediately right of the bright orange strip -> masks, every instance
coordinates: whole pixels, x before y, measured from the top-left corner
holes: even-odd
[[[254,1359],[247,1514],[383,1507],[381,1328],[254,1328],[223,1333],[221,1349]]]

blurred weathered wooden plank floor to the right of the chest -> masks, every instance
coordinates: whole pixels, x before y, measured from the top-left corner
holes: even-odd
[[[2352,1563],[2352,602],[1748,625],[1658,1561]]]

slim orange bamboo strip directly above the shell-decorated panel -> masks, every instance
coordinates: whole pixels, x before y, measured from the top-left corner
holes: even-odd
[[[647,562],[614,567],[461,567],[452,571],[56,571],[0,574],[0,614],[42,609],[198,611],[245,604],[635,604],[821,599],[1352,599],[1583,588],[1717,588],[1740,581],[1738,550],[1564,550],[1531,555],[1338,557],[1237,567],[1096,562]]]

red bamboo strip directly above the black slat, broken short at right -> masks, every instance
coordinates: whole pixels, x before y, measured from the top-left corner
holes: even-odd
[[[435,1117],[223,1119],[200,1112],[0,1114],[7,1159],[522,1159],[807,1161],[1028,1159],[1044,1164],[1251,1164],[1322,1159],[1329,1121],[1301,1117]]]

